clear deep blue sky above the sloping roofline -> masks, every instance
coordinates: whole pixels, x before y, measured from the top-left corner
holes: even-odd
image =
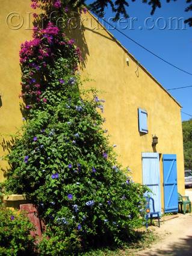
[[[166,0],[162,2],[163,6],[160,9],[156,9],[155,14],[150,16],[151,7],[149,5],[142,4],[141,0],[135,2],[130,0],[129,7],[127,8],[129,16],[137,18],[133,23],[134,29],[130,29],[130,20],[128,23],[122,22],[120,25],[116,23],[116,27],[150,51],[155,52],[155,54],[175,64],[175,66],[192,73],[192,27],[190,28],[188,25],[185,25],[185,29],[183,29],[181,20],[178,30],[175,29],[176,25],[174,25],[174,22],[172,25],[173,29],[169,29],[170,17],[184,17],[186,19],[192,16],[192,12],[186,13],[184,11],[187,6],[185,0],[170,2],[169,4],[166,3]],[[113,15],[110,8],[105,11],[105,19],[108,20]],[[148,27],[158,21],[151,30],[144,27],[144,20],[147,17],[149,17],[147,20]],[[154,19],[154,22],[151,18]],[[128,25],[126,29],[125,25]],[[149,52],[119,34],[118,31],[110,30],[110,32],[166,89],[192,86],[191,75],[187,75],[149,54]],[[192,116],[191,92],[192,87],[170,91],[172,96],[182,105],[182,111]],[[190,118],[190,116],[182,113],[182,120]]]

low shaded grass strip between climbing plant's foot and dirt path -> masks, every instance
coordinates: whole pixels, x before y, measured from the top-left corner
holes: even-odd
[[[138,251],[149,248],[153,242],[159,239],[158,235],[153,231],[137,231],[134,239],[130,242],[126,242],[122,246],[105,246],[97,249],[90,249],[81,255],[84,256],[133,256],[137,255]]]

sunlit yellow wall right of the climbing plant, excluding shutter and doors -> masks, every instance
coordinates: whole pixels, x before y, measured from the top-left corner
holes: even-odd
[[[120,163],[129,166],[134,180],[142,183],[142,152],[176,154],[178,191],[184,194],[181,106],[91,14],[83,16],[82,22],[81,37],[85,40],[76,38],[86,52],[82,76],[91,78],[93,81],[85,86],[101,90],[99,96],[106,100],[104,126],[111,135],[111,143],[117,145]],[[74,31],[72,34],[73,37],[78,35]],[[126,58],[129,58],[129,65]],[[138,107],[147,110],[148,114],[149,133],[143,136],[138,132]],[[152,135],[155,134],[159,143],[153,148]],[[163,195],[162,163],[160,169]]]

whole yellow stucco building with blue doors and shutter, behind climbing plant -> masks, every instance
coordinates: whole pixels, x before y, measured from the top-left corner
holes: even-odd
[[[29,0],[1,1],[1,143],[22,125],[19,49],[31,39],[32,13]],[[177,187],[184,194],[181,105],[90,13],[69,35],[82,51],[81,77],[90,78],[85,87],[95,87],[106,100],[105,128],[119,162],[129,166],[134,181],[152,189],[158,210],[175,211]],[[152,145],[155,135],[158,144]],[[5,154],[1,146],[0,156]]]

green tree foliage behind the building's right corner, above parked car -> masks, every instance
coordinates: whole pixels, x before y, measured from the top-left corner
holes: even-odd
[[[192,119],[182,122],[185,169],[192,168]]]

